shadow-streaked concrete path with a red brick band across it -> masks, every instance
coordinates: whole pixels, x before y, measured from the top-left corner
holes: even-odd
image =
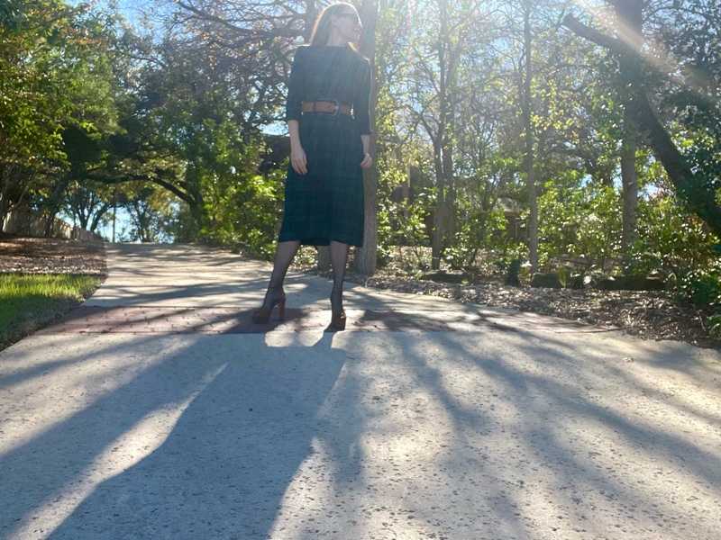
[[[721,539],[721,356],[113,246],[0,352],[0,538]]]

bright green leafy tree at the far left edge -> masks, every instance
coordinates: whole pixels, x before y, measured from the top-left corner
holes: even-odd
[[[31,204],[50,218],[50,234],[80,163],[118,130],[115,19],[61,0],[10,5],[0,16],[0,216]]]

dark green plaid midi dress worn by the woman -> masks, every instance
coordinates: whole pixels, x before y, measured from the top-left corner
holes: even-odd
[[[370,64],[349,47],[299,47],[288,83],[286,120],[299,122],[307,174],[288,166],[278,241],[363,245],[363,144],[370,133]],[[351,105],[353,115],[302,113],[302,103]]]

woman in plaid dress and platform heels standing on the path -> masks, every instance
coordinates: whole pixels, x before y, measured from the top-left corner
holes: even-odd
[[[263,306],[266,323],[278,306],[285,317],[283,281],[303,245],[330,245],[333,265],[331,329],[345,329],[342,286],[351,245],[363,244],[362,169],[373,164],[370,143],[370,63],[354,48],[362,26],[351,4],[329,5],[310,45],[293,59],[287,94],[290,165],[283,223]]]

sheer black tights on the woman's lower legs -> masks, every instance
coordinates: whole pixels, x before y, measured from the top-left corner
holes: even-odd
[[[265,293],[263,306],[269,307],[272,302],[283,296],[283,282],[286,279],[287,269],[296,257],[300,247],[298,240],[278,242],[276,258],[273,262],[273,272],[270,275],[268,292]],[[333,313],[342,311],[343,280],[345,279],[345,266],[348,264],[348,251],[350,245],[331,240],[331,264],[333,265],[333,290],[331,292],[331,309]]]

